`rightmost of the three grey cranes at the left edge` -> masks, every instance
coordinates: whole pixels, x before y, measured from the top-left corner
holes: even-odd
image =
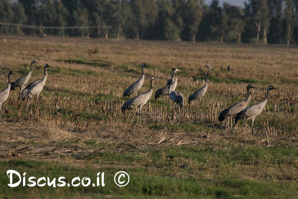
[[[39,93],[43,90],[44,84],[46,83],[46,79],[48,78],[48,72],[47,72],[48,67],[51,67],[51,66],[49,66],[49,64],[44,65],[44,78],[37,80],[35,82],[32,82],[30,87],[28,87],[27,89],[25,88],[23,90],[21,94],[22,99],[25,100],[27,97],[29,98],[26,110],[30,106],[30,99],[32,98],[33,95],[36,95],[36,100],[35,100],[35,109],[36,109]]]

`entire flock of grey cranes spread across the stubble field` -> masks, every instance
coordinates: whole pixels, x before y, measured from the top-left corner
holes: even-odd
[[[4,101],[7,100],[8,96],[10,94],[10,91],[15,90],[17,87],[20,87],[20,92],[19,92],[20,102],[24,101],[26,98],[28,98],[26,110],[30,106],[30,100],[31,100],[32,96],[36,95],[36,99],[35,99],[35,109],[36,109],[38,96],[39,96],[40,92],[43,90],[44,84],[46,83],[46,79],[48,77],[47,68],[51,67],[51,66],[49,66],[49,64],[45,64],[44,65],[44,77],[40,80],[31,82],[30,84],[28,84],[25,87],[25,85],[29,82],[30,77],[31,77],[32,64],[35,64],[35,63],[38,64],[38,62],[36,62],[34,60],[31,61],[30,71],[28,72],[28,74],[22,76],[21,78],[18,78],[14,82],[11,81],[11,75],[13,75],[14,73],[12,71],[8,72],[8,85],[4,90],[2,90],[0,92],[0,122],[1,122],[2,104]],[[134,82],[133,84],[131,84],[123,92],[123,99],[125,99],[126,96],[130,97],[131,94],[132,94],[132,98],[131,98],[131,100],[125,101],[122,106],[123,113],[125,113],[125,110],[137,109],[138,122],[140,122],[140,123],[141,123],[142,107],[149,101],[149,99],[151,98],[151,96],[153,94],[153,81],[160,80],[159,78],[152,76],[150,78],[150,89],[141,95],[137,95],[138,90],[141,89],[141,87],[144,83],[144,79],[145,79],[144,67],[149,67],[149,66],[146,64],[142,64],[141,67],[142,67],[141,78],[139,80],[137,80],[136,82]],[[208,61],[207,61],[207,67],[210,70],[214,70],[211,66],[208,65]],[[176,68],[176,69],[172,68],[172,78],[167,80],[165,87],[163,87],[162,89],[157,89],[154,94],[155,100],[157,100],[161,96],[167,95],[167,99],[169,98],[169,103],[170,103],[170,100],[172,100],[175,104],[176,114],[177,114],[177,105],[179,105],[180,108],[182,108],[184,106],[183,94],[179,91],[176,91],[176,87],[178,84],[178,78],[177,78],[178,71],[180,71],[178,68]],[[207,77],[211,77],[211,76],[206,74],[205,75],[205,85],[202,88],[196,90],[193,94],[191,94],[189,96],[189,98],[188,98],[189,104],[191,104],[191,102],[194,100],[195,100],[195,104],[197,104],[198,99],[200,99],[199,106],[201,106],[201,99],[206,94],[207,89],[208,89]],[[252,134],[254,134],[254,128],[253,128],[254,118],[257,115],[259,115],[262,112],[263,108],[265,107],[265,104],[266,104],[267,98],[268,98],[268,94],[269,94],[269,90],[277,89],[274,86],[269,86],[267,89],[267,95],[263,101],[259,102],[258,104],[255,104],[253,106],[247,107],[247,105],[249,104],[249,102],[251,100],[250,90],[253,88],[256,88],[256,87],[253,87],[251,84],[248,84],[247,88],[246,88],[247,89],[247,98],[243,101],[233,104],[232,106],[230,106],[227,109],[224,109],[218,116],[218,121],[224,121],[225,118],[234,117],[233,135],[235,135],[235,125],[237,124],[239,119],[244,119],[243,124],[247,120],[252,119],[251,129],[252,129]],[[166,100],[166,106],[167,106],[167,100]],[[247,126],[246,124],[244,124],[244,125]]]

